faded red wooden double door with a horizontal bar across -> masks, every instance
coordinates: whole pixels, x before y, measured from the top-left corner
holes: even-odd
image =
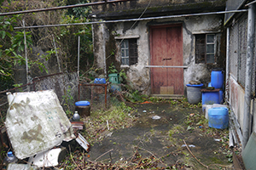
[[[181,25],[150,28],[151,65],[183,66]],[[183,94],[183,68],[151,68],[152,94]]]

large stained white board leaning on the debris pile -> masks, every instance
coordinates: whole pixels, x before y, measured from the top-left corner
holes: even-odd
[[[74,139],[73,127],[53,90],[8,93],[5,127],[19,159]]]

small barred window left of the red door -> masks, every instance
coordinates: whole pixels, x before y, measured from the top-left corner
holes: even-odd
[[[125,39],[121,43],[122,65],[137,64],[137,39]]]

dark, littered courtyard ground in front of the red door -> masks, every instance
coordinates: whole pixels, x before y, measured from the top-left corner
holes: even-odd
[[[157,167],[173,169],[232,169],[228,137],[222,136],[227,130],[200,122],[189,126],[188,117],[202,116],[201,108],[170,103],[132,107],[137,109],[135,125],[106,133],[105,139],[91,146],[90,161],[125,164],[145,158],[140,160],[148,161],[148,168],[149,161],[158,160]]]

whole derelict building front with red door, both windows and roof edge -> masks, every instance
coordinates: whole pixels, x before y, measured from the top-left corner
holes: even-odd
[[[124,70],[134,89],[182,96],[189,81],[210,82],[225,66],[225,1],[127,1],[93,7],[96,64]],[[211,13],[212,12],[212,13]],[[207,13],[207,14],[206,14]],[[211,14],[210,14],[211,13]]]

